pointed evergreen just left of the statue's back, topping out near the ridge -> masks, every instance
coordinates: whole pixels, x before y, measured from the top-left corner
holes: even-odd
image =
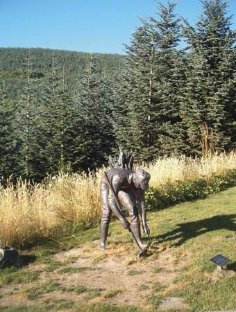
[[[78,135],[74,139],[73,167],[74,170],[87,171],[88,168],[94,169],[106,161],[114,140],[109,118],[108,82],[99,77],[92,54],[85,62],[87,67],[76,96]]]

